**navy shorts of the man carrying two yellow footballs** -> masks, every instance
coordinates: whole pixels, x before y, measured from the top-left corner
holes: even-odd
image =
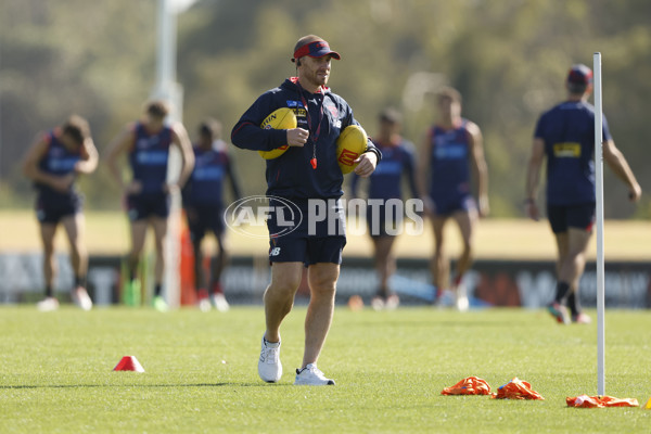
[[[270,213],[267,219],[269,261],[340,265],[346,245],[341,200],[283,202],[291,202],[292,213]],[[270,201],[270,205],[277,209],[279,203]]]

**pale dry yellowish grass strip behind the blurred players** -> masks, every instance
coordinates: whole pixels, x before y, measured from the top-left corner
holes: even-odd
[[[123,213],[87,213],[87,245],[91,255],[122,255],[129,246],[128,225]],[[455,255],[461,248],[457,228],[447,226],[446,244]],[[251,228],[250,228],[251,230]],[[229,233],[229,245],[233,255],[260,255],[268,250],[265,239],[266,228],[254,228],[261,238],[255,239],[238,233]],[[38,226],[31,210],[0,210],[0,252],[40,251]],[[588,248],[588,256],[595,257],[595,237]],[[403,234],[395,244],[398,257],[426,257],[433,252],[433,237],[429,222],[422,235]],[[150,237],[151,241],[151,237]],[[210,247],[208,240],[207,246]],[[607,259],[651,260],[651,221],[608,220],[604,225]],[[60,250],[67,248],[63,230],[56,239]],[[345,255],[370,256],[372,244],[368,235],[348,235]],[[553,260],[556,244],[547,221],[527,219],[497,220],[480,222],[476,231],[475,255],[478,259],[546,259]]]

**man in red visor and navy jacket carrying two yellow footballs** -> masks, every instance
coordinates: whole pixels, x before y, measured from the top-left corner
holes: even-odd
[[[267,161],[267,196],[279,196],[295,204],[305,217],[289,234],[278,233],[280,218],[267,221],[270,234],[271,283],[265,291],[267,330],[263,336],[258,374],[267,382],[282,375],[280,324],[291,311],[301,283],[304,265],[308,268],[310,302],[305,318],[305,352],[302,369],[294,384],[334,384],[317,368],[317,359],[328,335],[334,310],[335,285],[340,272],[345,233],[328,233],[328,221],[308,232],[309,201],[312,204],[332,200],[332,210],[343,215],[339,199],[344,177],[336,161],[336,139],[348,125],[357,124],[350,106],[326,87],[331,60],[340,59],[328,42],[315,35],[301,38],[294,47],[297,77],[261,94],[242,115],[232,130],[232,142],[239,148],[271,151],[289,144],[280,157]],[[288,130],[263,129],[260,124],[273,111],[293,107],[298,127]],[[381,158],[369,141],[355,171],[368,177]],[[318,200],[318,201],[315,201]],[[284,216],[286,217],[286,216]],[[343,218],[343,216],[342,216]]]

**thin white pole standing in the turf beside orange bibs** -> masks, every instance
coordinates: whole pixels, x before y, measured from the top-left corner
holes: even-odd
[[[603,108],[601,53],[592,58],[595,74],[595,177],[597,196],[597,393],[605,395],[605,290],[603,286]]]

